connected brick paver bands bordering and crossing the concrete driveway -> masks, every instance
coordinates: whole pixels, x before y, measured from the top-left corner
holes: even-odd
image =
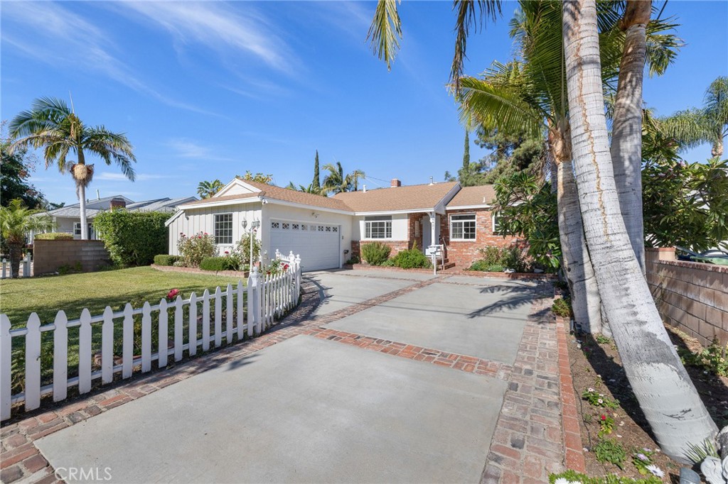
[[[309,334],[367,350],[506,379],[509,387],[481,482],[543,482],[547,472],[563,469],[565,441],[560,416],[556,324],[548,311],[550,298],[537,298],[532,303],[513,367],[322,327],[432,283],[448,283],[447,276],[417,281],[403,289],[317,317],[314,312],[320,304],[320,293],[313,283],[306,282],[301,304],[262,336],[221,347],[204,355],[204,358],[183,360],[163,371],[134,376],[96,395],[77,398],[50,411],[36,411],[23,419],[4,424],[0,431],[0,480],[3,483],[29,484],[63,482],[56,478],[54,469],[41,456],[34,440],[293,336]],[[543,289],[550,284],[539,286]]]

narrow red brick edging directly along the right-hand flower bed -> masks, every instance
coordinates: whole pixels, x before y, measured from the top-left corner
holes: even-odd
[[[566,468],[577,472],[586,472],[584,446],[579,429],[577,413],[577,396],[574,394],[574,381],[571,379],[571,363],[569,347],[567,347],[567,329],[569,320],[556,318],[556,334],[558,338],[558,373],[561,386],[561,424],[563,428],[563,452]]]

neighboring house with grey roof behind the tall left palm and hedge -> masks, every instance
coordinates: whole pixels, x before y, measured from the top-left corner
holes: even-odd
[[[123,208],[128,211],[166,211],[172,214],[177,210],[178,205],[195,200],[197,200],[195,197],[183,197],[156,198],[154,200],[135,202],[123,195],[89,200],[86,202],[89,238],[96,238],[96,233],[93,230],[93,219],[102,211],[112,208]],[[73,205],[63,206],[60,209],[46,211],[41,215],[47,215],[52,218],[55,223],[54,232],[71,233],[74,235],[74,238],[79,239],[81,238],[81,214],[79,210],[79,203],[74,203]],[[31,234],[30,236],[30,243],[33,243],[33,235]]]

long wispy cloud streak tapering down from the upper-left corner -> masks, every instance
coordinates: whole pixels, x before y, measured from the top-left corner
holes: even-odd
[[[10,1],[3,3],[2,10],[7,22],[2,31],[5,49],[13,47],[50,65],[71,65],[98,73],[173,108],[217,116],[174,100],[141,81],[129,65],[114,55],[117,48],[108,33],[69,9],[50,1]]]

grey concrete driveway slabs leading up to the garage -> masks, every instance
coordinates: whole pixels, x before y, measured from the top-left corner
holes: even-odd
[[[310,327],[513,363],[533,285],[392,275],[307,275]],[[432,363],[298,334],[36,445],[112,483],[477,482],[507,382]]]

